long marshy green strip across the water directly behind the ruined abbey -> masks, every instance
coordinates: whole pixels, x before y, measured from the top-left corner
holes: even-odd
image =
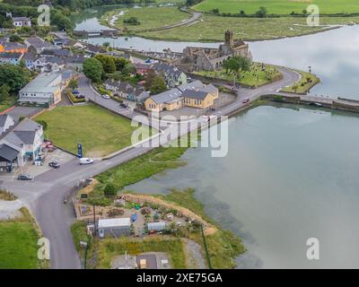
[[[359,2],[358,2],[359,4]],[[358,10],[359,11],[359,10]],[[223,41],[224,30],[233,30],[236,39],[277,39],[328,30],[329,26],[310,27],[304,17],[239,18],[210,14],[202,16],[201,22],[188,26],[136,33],[152,39],[182,41]],[[359,17],[320,17],[320,25],[359,22]]]

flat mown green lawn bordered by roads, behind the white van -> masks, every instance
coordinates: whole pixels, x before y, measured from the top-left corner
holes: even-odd
[[[45,137],[70,152],[83,143],[86,156],[101,157],[131,144],[136,129],[127,118],[112,114],[93,104],[57,107],[36,117],[48,123]]]

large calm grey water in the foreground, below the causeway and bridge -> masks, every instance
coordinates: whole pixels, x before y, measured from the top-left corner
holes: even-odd
[[[359,117],[283,107],[232,118],[227,157],[191,149],[186,167],[128,189],[195,187],[206,212],[243,238],[241,267],[359,267]],[[312,237],[319,261],[305,256]]]

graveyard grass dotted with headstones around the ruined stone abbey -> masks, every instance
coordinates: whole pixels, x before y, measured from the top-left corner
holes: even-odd
[[[233,75],[227,74],[224,69],[220,71],[199,71],[195,74],[204,75],[212,78],[218,78],[225,81],[233,82]],[[258,74],[258,80],[257,80]],[[262,85],[266,83],[271,83],[278,80],[281,77],[279,71],[276,70],[276,67],[272,65],[264,65],[263,69],[260,64],[255,63],[251,65],[250,71],[241,73],[241,80],[239,83],[255,86]]]

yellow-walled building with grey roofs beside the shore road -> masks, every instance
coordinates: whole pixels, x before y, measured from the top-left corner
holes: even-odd
[[[144,101],[144,108],[148,111],[174,110],[182,107],[207,109],[215,104],[219,91],[213,84],[200,81],[183,83],[170,91],[153,95]]]

